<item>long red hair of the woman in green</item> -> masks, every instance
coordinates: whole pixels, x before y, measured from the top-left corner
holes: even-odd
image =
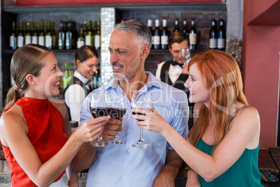
[[[242,77],[238,63],[230,54],[220,50],[204,50],[196,54],[190,61],[190,68],[197,64],[201,75],[205,78],[205,86],[210,89],[210,106],[203,105],[199,117],[189,131],[189,142],[196,146],[201,139],[211,118],[215,114],[215,147],[224,138],[228,123],[235,114],[236,103],[248,105],[243,93]],[[214,150],[213,149],[213,150]]]

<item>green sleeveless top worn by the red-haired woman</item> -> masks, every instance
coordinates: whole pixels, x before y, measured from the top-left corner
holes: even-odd
[[[231,122],[230,122],[231,124]],[[229,126],[229,125],[228,125]],[[202,138],[196,148],[210,155],[214,146],[203,142]],[[258,187],[260,184],[260,171],[258,170],[258,149],[245,149],[240,158],[219,177],[211,182],[206,182],[200,175],[202,187]]]

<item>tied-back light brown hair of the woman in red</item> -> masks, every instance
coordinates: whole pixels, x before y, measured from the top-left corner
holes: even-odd
[[[24,90],[29,85],[26,75],[38,76],[44,67],[42,59],[50,52],[52,51],[47,47],[36,44],[24,45],[15,51],[10,63],[10,74],[15,84],[8,91],[4,109],[24,96]]]

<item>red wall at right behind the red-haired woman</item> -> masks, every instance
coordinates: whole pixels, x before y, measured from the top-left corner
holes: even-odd
[[[257,25],[248,23],[258,20],[258,16],[276,6],[275,3],[280,4],[277,0],[246,0],[243,11],[244,93],[260,114],[260,147],[266,148],[277,145],[280,17],[279,25],[265,25],[270,24],[270,17]]]

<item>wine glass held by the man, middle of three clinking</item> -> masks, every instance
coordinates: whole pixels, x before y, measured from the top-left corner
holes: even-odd
[[[110,116],[113,119],[122,119],[127,109],[125,91],[109,91],[110,94]],[[111,144],[125,144],[125,141],[120,140],[118,133]]]

